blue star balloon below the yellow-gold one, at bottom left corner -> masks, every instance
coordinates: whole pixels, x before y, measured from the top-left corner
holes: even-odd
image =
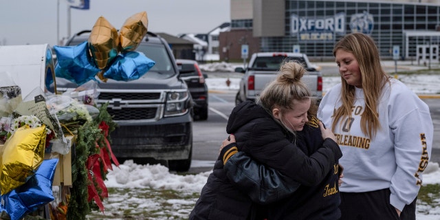
[[[22,219],[26,213],[36,211],[40,206],[54,200],[52,182],[54,181],[58,159],[45,159],[35,174],[25,184],[1,196],[5,210],[11,220]]]

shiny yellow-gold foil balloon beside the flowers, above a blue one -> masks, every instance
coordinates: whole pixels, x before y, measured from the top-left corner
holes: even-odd
[[[0,160],[1,195],[25,184],[41,165],[46,142],[45,125],[21,126],[6,140]]]

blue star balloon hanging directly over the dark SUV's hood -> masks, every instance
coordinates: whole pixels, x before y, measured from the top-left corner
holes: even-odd
[[[116,56],[115,61],[104,72],[104,77],[118,81],[137,80],[155,64],[155,61],[140,52],[126,52]]]

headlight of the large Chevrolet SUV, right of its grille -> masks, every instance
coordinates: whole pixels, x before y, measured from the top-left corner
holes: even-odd
[[[166,94],[164,117],[184,115],[188,112],[188,91],[170,91]]]

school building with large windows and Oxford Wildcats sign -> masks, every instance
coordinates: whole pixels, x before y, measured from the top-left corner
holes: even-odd
[[[230,7],[230,31],[219,34],[220,60],[274,51],[332,60],[338,39],[362,32],[384,59],[439,61],[438,0],[231,0]]]

